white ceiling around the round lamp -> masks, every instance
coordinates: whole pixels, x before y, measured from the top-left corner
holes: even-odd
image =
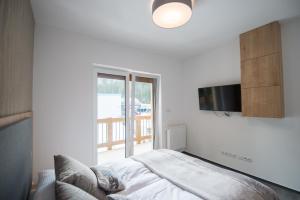
[[[300,0],[195,0],[189,23],[169,30],[153,24],[151,4],[152,0],[32,0],[37,23],[180,58],[257,26],[300,15]]]

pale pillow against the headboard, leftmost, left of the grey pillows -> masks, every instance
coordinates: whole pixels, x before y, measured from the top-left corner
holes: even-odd
[[[55,173],[54,170],[39,172],[39,179],[33,200],[55,200]]]

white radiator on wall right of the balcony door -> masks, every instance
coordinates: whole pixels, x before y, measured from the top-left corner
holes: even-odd
[[[167,148],[183,151],[186,148],[186,126],[174,125],[167,129]]]

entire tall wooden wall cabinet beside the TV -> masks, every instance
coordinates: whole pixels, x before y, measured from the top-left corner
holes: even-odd
[[[280,24],[240,35],[242,114],[284,117]]]

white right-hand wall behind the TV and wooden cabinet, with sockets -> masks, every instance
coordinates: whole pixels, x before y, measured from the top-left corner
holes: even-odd
[[[221,48],[184,63],[188,151],[211,161],[300,191],[300,19],[282,24],[283,119],[217,117],[200,111],[197,88],[240,82],[238,36]],[[247,163],[221,154],[247,156]]]

